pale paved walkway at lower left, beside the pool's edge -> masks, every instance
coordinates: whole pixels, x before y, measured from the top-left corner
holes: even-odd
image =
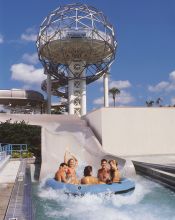
[[[0,220],[4,219],[20,161],[9,161],[0,171]]]

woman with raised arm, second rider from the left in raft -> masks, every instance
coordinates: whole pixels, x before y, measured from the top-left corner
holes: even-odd
[[[76,168],[78,166],[77,158],[70,152],[66,151],[64,155],[64,163],[68,165],[68,169],[67,169],[68,183],[79,184],[80,181],[77,179],[77,176],[76,176]]]

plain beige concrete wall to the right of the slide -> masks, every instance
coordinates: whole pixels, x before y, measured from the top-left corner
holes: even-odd
[[[175,108],[102,108],[86,118],[109,153],[175,154]]]

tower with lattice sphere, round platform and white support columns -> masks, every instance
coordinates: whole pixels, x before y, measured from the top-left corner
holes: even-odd
[[[68,98],[69,114],[85,115],[86,85],[102,76],[107,106],[106,73],[115,58],[116,45],[113,26],[98,9],[75,3],[52,11],[37,38],[39,59],[47,74],[43,89],[48,94],[48,113],[51,94],[57,94]]]

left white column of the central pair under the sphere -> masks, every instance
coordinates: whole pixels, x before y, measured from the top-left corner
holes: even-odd
[[[74,80],[71,79],[72,73],[69,72],[68,81],[68,103],[69,103],[69,114],[74,115]]]

